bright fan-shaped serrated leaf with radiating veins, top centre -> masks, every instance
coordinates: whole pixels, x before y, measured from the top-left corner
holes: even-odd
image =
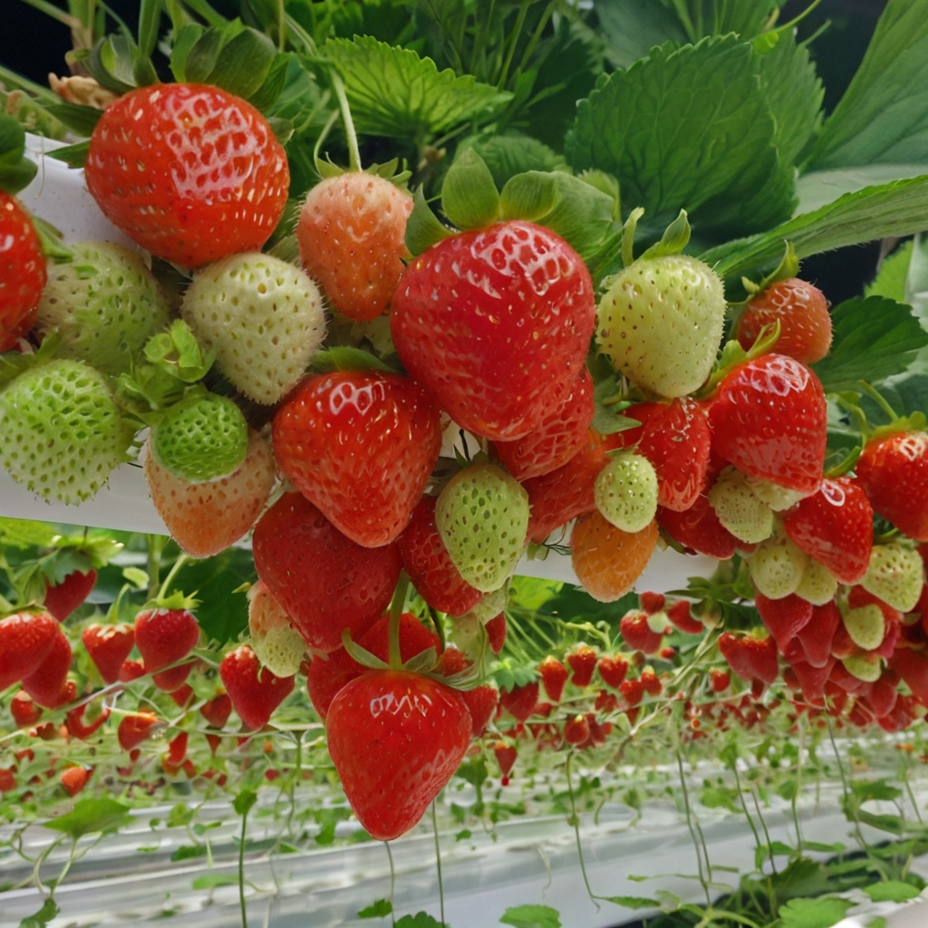
[[[511,94],[470,75],[438,71],[431,58],[370,36],[330,39],[321,49],[342,75],[354,126],[361,134],[419,142],[471,119],[487,118]]]

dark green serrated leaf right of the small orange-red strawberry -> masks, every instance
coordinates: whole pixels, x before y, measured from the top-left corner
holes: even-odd
[[[928,345],[909,306],[883,297],[847,300],[831,310],[831,354],[812,369],[828,393],[857,389],[903,373]]]

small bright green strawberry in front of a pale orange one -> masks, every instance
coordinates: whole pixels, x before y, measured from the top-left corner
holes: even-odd
[[[248,453],[248,423],[241,410],[214,393],[187,397],[167,410],[151,436],[155,460],[193,483],[237,470]]]

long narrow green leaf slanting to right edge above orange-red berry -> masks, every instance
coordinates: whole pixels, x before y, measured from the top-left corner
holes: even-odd
[[[700,257],[722,277],[772,268],[793,242],[799,258],[858,245],[874,238],[903,237],[922,231],[928,216],[928,176],[893,181],[848,193],[813,213],[781,226],[704,251]]]

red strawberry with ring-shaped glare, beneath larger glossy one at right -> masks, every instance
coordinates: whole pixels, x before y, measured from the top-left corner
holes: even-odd
[[[783,528],[810,558],[824,564],[842,583],[859,583],[873,547],[873,510],[859,483],[825,478],[783,516]]]

